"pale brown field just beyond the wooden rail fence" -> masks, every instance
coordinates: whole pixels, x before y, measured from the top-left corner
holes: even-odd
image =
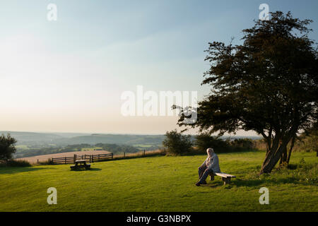
[[[73,151],[69,153],[56,153],[56,154],[49,154],[49,155],[37,155],[32,157],[20,157],[16,160],[26,160],[30,162],[31,164],[36,163],[37,160],[39,162],[45,162],[49,158],[52,157],[72,157],[74,155],[101,155],[101,154],[107,154],[110,153],[107,150],[86,150],[86,151]]]

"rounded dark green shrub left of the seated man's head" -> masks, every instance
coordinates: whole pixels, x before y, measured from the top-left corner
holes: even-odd
[[[165,133],[165,140],[163,141],[163,146],[170,155],[184,155],[191,153],[192,141],[190,135],[182,135],[177,130],[167,131]]]

